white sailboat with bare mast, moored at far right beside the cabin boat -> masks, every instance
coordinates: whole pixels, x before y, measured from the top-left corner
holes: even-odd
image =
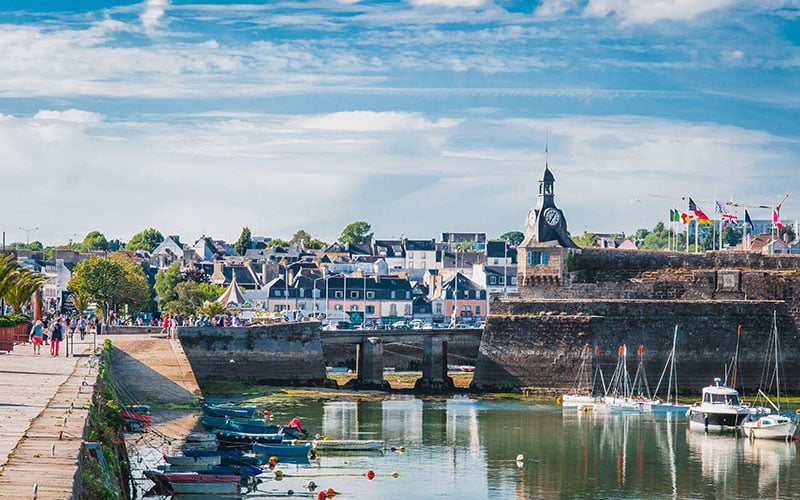
[[[778,343],[778,314],[776,311],[772,313],[772,332],[770,333],[768,346],[761,380],[762,388],[758,390],[756,401],[759,398],[764,398],[777,413],[760,415],[755,418],[751,415],[751,418],[742,424],[742,428],[745,435],[749,436],[750,439],[789,440],[793,438],[795,431],[797,431],[797,424],[790,417],[781,415],[780,348]],[[771,359],[773,354],[775,356],[774,360]],[[773,383],[777,404],[763,390],[764,388],[770,390]]]

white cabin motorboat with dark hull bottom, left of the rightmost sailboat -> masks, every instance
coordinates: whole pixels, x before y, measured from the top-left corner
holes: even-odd
[[[750,408],[739,401],[739,391],[720,385],[722,379],[714,379],[714,385],[703,388],[703,398],[686,412],[689,428],[700,431],[737,430],[750,415]]]

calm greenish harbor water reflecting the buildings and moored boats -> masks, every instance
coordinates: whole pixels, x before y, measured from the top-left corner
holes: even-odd
[[[685,415],[606,414],[466,397],[280,399],[276,421],[382,439],[383,452],[280,462],[247,498],[797,498],[796,442],[690,431]],[[284,420],[285,419],[285,420]],[[374,473],[374,477],[368,475]],[[313,481],[317,488],[306,487]]]

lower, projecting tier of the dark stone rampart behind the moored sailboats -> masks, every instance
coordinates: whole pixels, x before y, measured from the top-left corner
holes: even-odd
[[[776,294],[780,295],[780,294]],[[783,354],[787,391],[800,394],[800,332],[796,311],[784,301],[538,300],[494,306],[484,332],[473,389],[502,391],[522,387],[557,392],[569,388],[580,365],[583,346],[600,355],[594,366],[606,381],[628,348],[628,367],[635,373],[636,350],[655,389],[678,325],[679,390],[686,395],[723,377],[740,340],[740,373],[744,393],[759,387],[773,311]],[[741,388],[742,386],[740,386]]]

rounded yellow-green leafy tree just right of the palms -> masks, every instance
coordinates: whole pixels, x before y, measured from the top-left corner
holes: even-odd
[[[117,288],[125,280],[125,269],[119,262],[104,257],[92,257],[79,262],[73,269],[67,288],[75,293],[84,293],[100,305],[104,318],[117,294]]]

